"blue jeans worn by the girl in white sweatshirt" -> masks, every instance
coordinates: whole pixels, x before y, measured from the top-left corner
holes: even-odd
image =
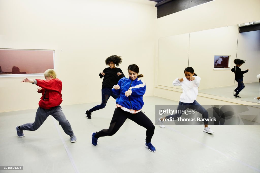
[[[202,118],[209,118],[209,113],[207,112],[207,110],[202,107],[196,100],[194,100],[193,103],[184,103],[184,102],[179,102],[179,106],[177,108],[177,110],[186,110],[187,108],[193,109],[195,111],[197,111],[198,113],[202,114]],[[174,115],[168,115],[166,116],[166,118],[174,118],[177,119],[178,117],[181,117],[182,115],[182,111],[179,111],[180,113],[174,114]],[[204,121],[204,124],[208,124],[208,121]]]

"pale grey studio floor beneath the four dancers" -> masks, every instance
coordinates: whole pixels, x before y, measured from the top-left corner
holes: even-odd
[[[178,102],[144,97],[143,111],[155,124],[155,105]],[[0,165],[23,165],[24,170],[0,172],[260,172],[260,126],[155,126],[152,153],[145,129],[127,120],[114,136],[91,144],[91,132],[108,128],[115,101],[87,119],[84,111],[97,103],[62,106],[77,142],[71,143],[51,116],[36,131],[16,135],[15,127],[33,122],[36,109],[0,113]]]

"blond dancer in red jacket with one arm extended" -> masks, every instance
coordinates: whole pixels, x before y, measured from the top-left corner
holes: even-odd
[[[56,78],[56,72],[53,69],[48,69],[44,72],[44,78],[29,79],[24,78],[22,82],[30,82],[39,86],[38,93],[42,94],[39,101],[39,108],[37,109],[35,121],[33,123],[26,123],[16,127],[18,137],[24,137],[23,130],[34,131],[41,127],[42,123],[49,115],[52,115],[61,125],[64,132],[70,136],[70,142],[76,142],[77,138],[71,129],[69,121],[66,119],[61,110],[61,89],[62,82]]]

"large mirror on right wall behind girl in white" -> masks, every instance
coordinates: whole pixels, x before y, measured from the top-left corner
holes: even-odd
[[[260,65],[260,31],[239,33],[238,26],[232,25],[163,37],[159,39],[158,50],[160,86],[180,88],[171,83],[177,77],[184,77],[184,69],[191,66],[202,78],[200,93],[233,98],[237,82],[231,68],[234,67],[233,60],[239,58],[246,60],[242,71],[249,68],[244,74],[245,88],[240,93],[240,100],[255,102],[254,98],[260,96],[259,79],[256,78],[260,74],[257,68]],[[229,57],[224,68],[214,68],[216,56]]]

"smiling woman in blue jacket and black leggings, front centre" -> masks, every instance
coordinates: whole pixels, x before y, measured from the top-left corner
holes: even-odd
[[[97,139],[102,136],[112,136],[123,125],[126,119],[130,119],[140,126],[146,128],[145,147],[149,151],[155,152],[154,146],[151,144],[154,134],[154,125],[152,121],[141,111],[144,105],[143,95],[145,93],[145,82],[139,78],[143,77],[139,73],[139,67],[135,64],[129,65],[129,78],[123,77],[114,85],[112,92],[120,95],[116,99],[116,109],[110,122],[109,129],[103,129],[99,132],[92,132],[92,144],[97,146]]]

